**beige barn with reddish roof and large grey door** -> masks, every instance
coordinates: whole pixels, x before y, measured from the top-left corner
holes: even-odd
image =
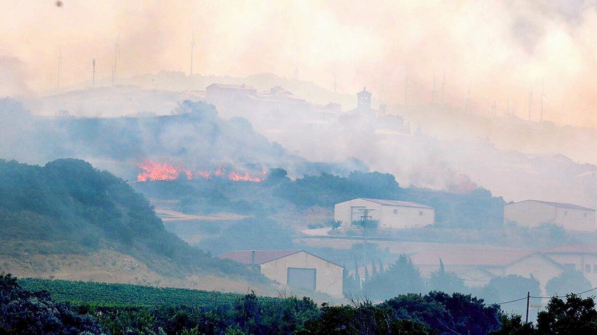
[[[304,250],[235,250],[218,257],[248,265],[289,287],[343,296],[344,268]]]

